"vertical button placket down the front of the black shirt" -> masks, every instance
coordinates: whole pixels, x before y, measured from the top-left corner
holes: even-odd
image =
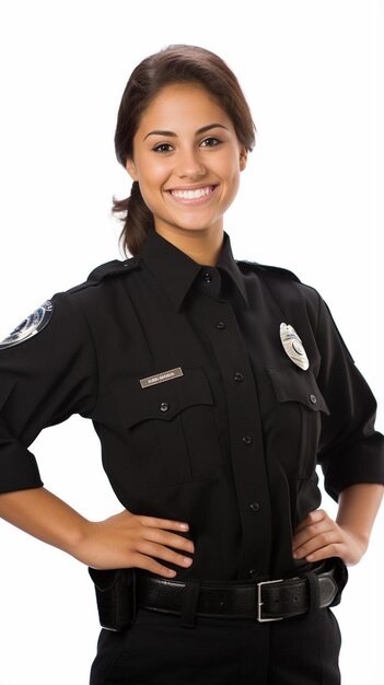
[[[243,539],[238,573],[246,574],[255,566],[260,573],[268,572],[270,501],[258,398],[251,362],[229,302],[207,300],[203,320],[221,369],[229,410],[231,457]],[[254,504],[254,509],[251,504]]]

